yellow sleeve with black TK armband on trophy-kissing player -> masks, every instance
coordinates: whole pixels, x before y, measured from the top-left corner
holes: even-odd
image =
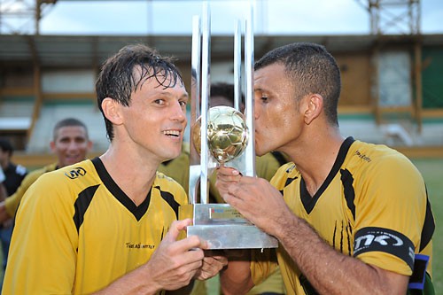
[[[356,182],[354,256],[410,276],[426,212],[424,180],[408,159],[390,155]]]

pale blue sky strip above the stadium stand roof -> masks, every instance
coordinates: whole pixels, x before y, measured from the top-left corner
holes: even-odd
[[[2,0],[5,1],[5,0]],[[403,0],[405,1],[405,0]],[[255,35],[365,35],[370,32],[366,0],[212,0],[213,35],[231,35],[236,19],[245,19],[254,4]],[[406,1],[405,1],[406,2]],[[58,0],[43,10],[42,35],[190,35],[192,16],[203,1]],[[406,6],[405,6],[406,7]],[[421,0],[421,31],[443,34],[443,1]],[[400,15],[406,10],[385,10]],[[386,14],[387,15],[387,14]],[[383,14],[382,14],[383,16]],[[392,17],[383,17],[385,22]],[[382,18],[382,19],[383,19]],[[403,17],[401,19],[407,19]],[[384,25],[392,34],[404,34],[408,22]]]

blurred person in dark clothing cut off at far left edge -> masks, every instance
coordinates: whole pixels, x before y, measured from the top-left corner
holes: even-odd
[[[12,153],[14,149],[9,140],[0,138],[0,166],[4,172],[4,189],[6,190],[6,198],[11,196],[18,188],[20,183],[27,175],[27,168],[12,163]],[[2,199],[2,201],[4,201]],[[12,235],[12,220],[5,221],[0,229],[0,239],[2,241],[3,251],[3,267],[6,268],[8,260],[9,245]]]

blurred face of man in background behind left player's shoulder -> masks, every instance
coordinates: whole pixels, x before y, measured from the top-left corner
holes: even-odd
[[[58,157],[58,166],[73,165],[86,159],[92,147],[88,133],[82,126],[65,126],[58,128],[51,142],[51,150]]]

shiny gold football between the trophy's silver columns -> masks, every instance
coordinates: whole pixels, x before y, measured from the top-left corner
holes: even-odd
[[[192,126],[195,149],[200,153],[201,117]],[[214,106],[207,115],[208,149],[219,163],[226,163],[245,151],[248,141],[248,128],[245,116],[235,108],[225,105]]]

